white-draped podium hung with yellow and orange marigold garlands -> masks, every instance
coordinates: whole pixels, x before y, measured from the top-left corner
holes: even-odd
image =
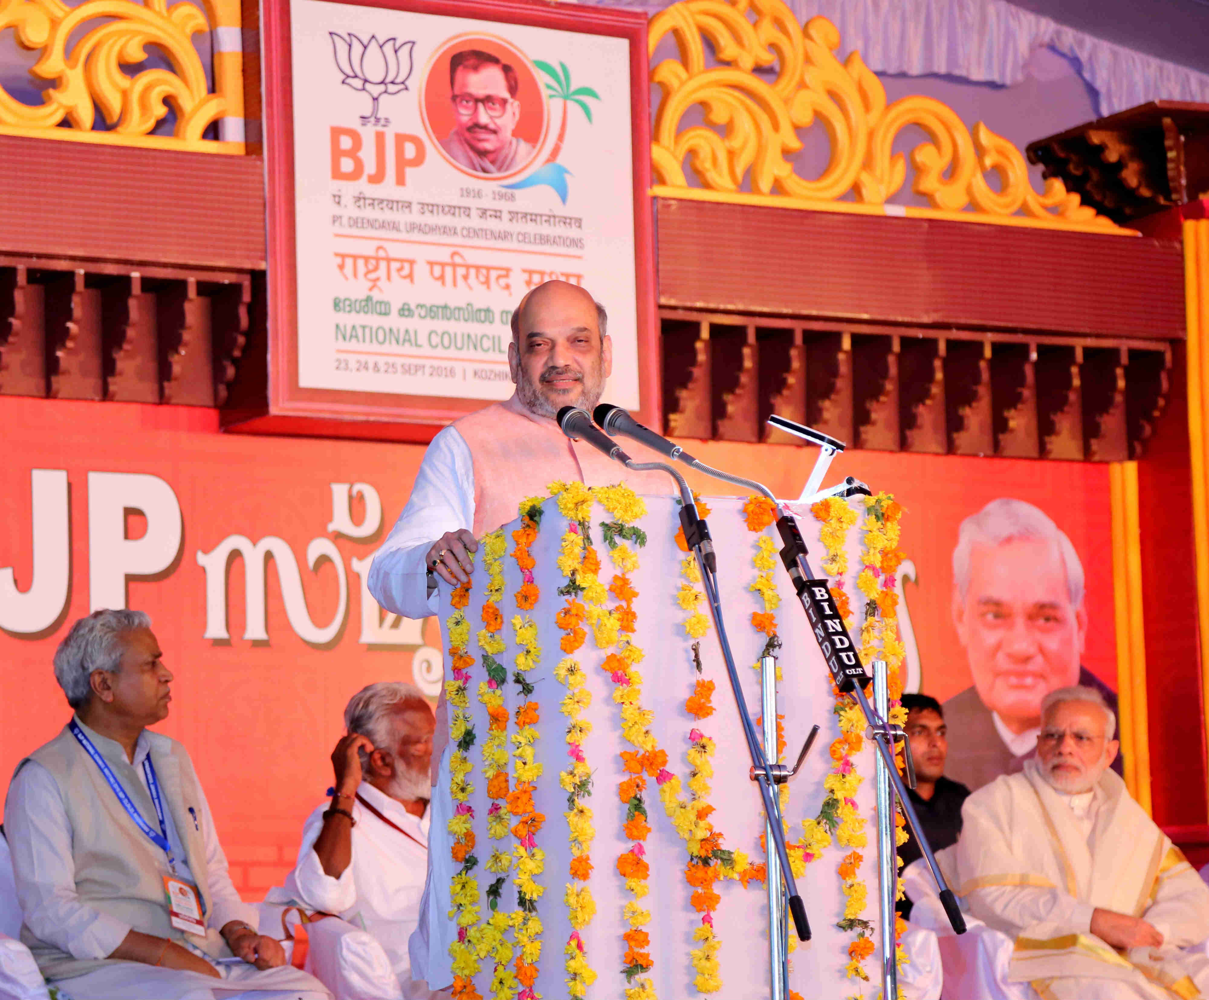
[[[429,834],[429,982],[458,976],[455,996],[465,998],[765,998],[764,817],[708,608],[677,544],[678,503],[636,505],[621,487],[594,493],[573,484],[527,501],[531,516],[482,541],[468,589],[441,585],[450,741]],[[833,580],[849,596],[857,642],[867,501],[828,502],[851,510],[829,522],[843,551],[829,565],[846,561]],[[705,504],[753,717],[758,659],[775,631],[781,759],[822,727],[782,786],[791,854],[810,859],[798,888],[814,931],[791,956],[789,985],[804,998],[875,996],[873,750],[843,739],[770,519],[744,498]],[[823,524],[805,509],[799,524],[818,571]],[[846,843],[831,837],[823,848],[815,821],[825,784],[834,792],[828,775],[845,769],[861,779],[855,790],[851,773],[838,785]],[[699,863],[702,845],[712,872]],[[852,920],[868,921],[855,949]],[[850,963],[869,981],[849,976]]]

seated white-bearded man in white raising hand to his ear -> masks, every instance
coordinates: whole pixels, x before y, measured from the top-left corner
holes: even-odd
[[[411,684],[370,684],[345,709],[331,753],[331,805],[302,828],[285,895],[307,909],[336,914],[382,946],[399,979],[398,996],[427,998],[411,978],[407,938],[420,921],[428,871],[428,779],[433,710]]]

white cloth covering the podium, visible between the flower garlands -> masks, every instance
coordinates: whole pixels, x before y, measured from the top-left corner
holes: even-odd
[[[540,490],[534,484],[534,490]],[[753,861],[763,861],[759,837],[763,832],[763,811],[759,792],[748,779],[750,758],[744,742],[742,732],[725,667],[719,652],[717,634],[711,625],[701,640],[701,676],[712,680],[717,688],[713,695],[715,715],[700,722],[684,709],[686,698],[693,693],[698,675],[694,670],[692,642],[682,623],[688,617],[677,602],[681,583],[681,562],[686,553],[675,544],[678,528],[678,505],[670,497],[646,497],[647,515],[637,522],[647,533],[647,544],[638,550],[640,567],[630,574],[640,596],[634,607],[637,612],[637,630],[634,642],[646,652],[646,658],[638,666],[643,677],[643,706],[654,711],[652,732],[661,748],[667,751],[667,768],[679,775],[686,784],[689,768],[684,752],[689,747],[689,730],[700,728],[717,745],[713,757],[713,790],[708,802],[717,811],[711,816],[715,827],[724,836],[727,849],[747,852]],[[752,557],[757,551],[757,534],[748,531],[742,514],[741,498],[707,498],[712,513],[708,518],[718,553],[718,573],[723,600],[724,622],[730,636],[735,661],[741,678],[744,695],[753,721],[760,713],[759,672],[753,669],[764,647],[765,636],[751,625],[752,612],[764,611],[759,596],[750,588],[757,571]],[[855,620],[862,620],[863,599],[856,588],[856,576],[861,570],[861,526],[864,520],[863,498],[851,501],[860,511],[857,524],[848,536],[849,570],[846,590],[851,596]],[[592,543],[601,559],[600,579],[607,586],[613,576],[608,550],[603,544],[600,522],[612,520],[612,516],[598,504],[592,509]],[[566,583],[556,568],[555,560],[560,543],[566,532],[566,519],[559,513],[557,503],[545,503],[544,516],[531,553],[537,566],[533,571],[534,582],[540,590],[536,607],[528,612],[517,612],[514,595],[522,583],[520,570],[513,559],[514,542],[511,531],[519,521],[505,527],[508,550],[503,557],[504,595],[497,602],[503,614],[504,628],[499,635],[508,643],[507,649],[496,659],[509,671],[509,682],[504,686],[504,705],[511,718],[516,707],[523,701],[536,700],[540,705],[540,738],[536,742],[536,759],[543,764],[544,771],[537,781],[533,794],[536,808],[546,817],[545,826],[537,834],[537,846],[545,851],[545,869],[538,877],[545,892],[538,902],[538,915],[542,919],[542,955],[538,961],[539,975],[534,989],[545,998],[565,996],[563,944],[571,933],[567,908],[563,903],[563,890],[571,880],[568,863],[567,822],[563,813],[567,809],[567,794],[559,787],[559,773],[567,767],[567,745],[565,742],[566,718],[559,712],[559,704],[565,688],[555,678],[554,669],[562,659],[559,647],[563,632],[555,624],[555,613],[565,603],[557,595],[557,589]],[[816,576],[823,576],[820,563],[825,556],[818,541],[821,525],[804,510],[799,525],[810,549],[811,567]],[[765,530],[770,537],[776,537],[775,527]],[[780,541],[777,539],[777,548]],[[783,642],[780,651],[780,663],[783,680],[780,684],[779,711],[785,717],[785,735],[788,744],[786,756],[796,756],[814,723],[822,727],[815,751],[808,758],[803,770],[791,785],[787,817],[791,823],[789,839],[802,836],[802,821],[815,817],[826,796],[823,779],[829,773],[833,762],[828,756],[831,742],[839,736],[839,727],[833,713],[831,676],[823,664],[818,647],[810,635],[805,613],[793,595],[788,576],[777,563],[774,580],[781,596],[776,609],[777,632]],[[481,774],[481,740],[488,732],[486,709],[478,700],[476,692],[480,681],[486,680],[481,665],[481,649],[475,642],[475,634],[481,628],[481,609],[486,573],[482,560],[475,565],[470,603],[464,609],[470,623],[469,652],[475,657],[468,683],[469,715],[473,719],[479,742],[470,748],[468,756],[474,764],[469,782],[474,791],[469,804],[474,808],[474,831],[478,845],[475,854],[479,866],[478,875],[482,913],[490,915],[486,906],[485,890],[494,875],[484,871],[482,863],[491,854],[492,846],[510,850],[515,839],[509,836],[503,840],[490,840],[486,833],[486,816],[490,800],[486,796],[486,780]],[[608,606],[615,602],[611,599]],[[702,611],[706,611],[702,605]],[[441,629],[444,646],[449,648],[446,619],[451,607],[449,588],[442,585],[441,593]],[[538,667],[528,674],[534,684],[532,695],[521,698],[511,682],[514,658],[519,647],[510,625],[514,614],[527,614],[538,625],[538,642],[542,658]],[[592,732],[583,742],[583,751],[594,770],[592,794],[586,804],[594,811],[595,842],[591,846],[591,860],[595,866],[589,883],[596,901],[596,917],[580,932],[586,946],[589,965],[597,972],[596,983],[589,988],[588,996],[618,996],[626,985],[620,973],[623,953],[626,944],[621,935],[627,930],[621,918],[623,907],[631,896],[625,889],[623,878],[618,874],[615,862],[620,854],[632,846],[623,833],[625,807],[617,793],[618,784],[624,779],[619,751],[630,750],[620,730],[619,706],[613,701],[613,683],[600,669],[606,652],[595,647],[591,631],[588,642],[574,654],[586,675],[586,688],[592,701],[584,718],[591,721]],[[450,677],[446,667],[446,678]],[[451,712],[452,717],[452,712]],[[509,734],[515,726],[509,722]],[[509,747],[510,748],[510,747]],[[412,937],[411,952],[415,975],[423,975],[434,988],[452,983],[450,973],[449,942],[456,933],[449,919],[450,879],[457,867],[451,860],[452,838],[446,831],[446,822],[453,813],[453,803],[449,788],[449,755],[446,747],[438,786],[434,790],[433,822],[429,833],[429,885],[426,892],[421,926]],[[867,817],[866,833],[868,845],[862,849],[864,863],[860,869],[861,878],[868,885],[868,903],[862,917],[873,924],[878,918],[878,871],[877,838],[874,816],[874,764],[869,741],[854,757],[856,769],[864,776],[856,802],[861,815]],[[693,941],[693,931],[700,924],[701,917],[689,903],[690,886],[684,880],[684,865],[688,857],[684,843],[676,834],[655,788],[649,781],[646,800],[649,811],[649,823],[653,832],[646,840],[647,861],[650,865],[650,895],[643,906],[652,911],[652,921],[644,927],[650,935],[650,955],[654,967],[648,973],[656,994],[663,1000],[681,1000],[698,995],[693,985],[694,969],[689,952],[699,947]],[[875,952],[864,963],[870,982],[848,978],[844,969],[848,963],[848,946],[854,933],[840,931],[835,924],[844,915],[844,896],[837,868],[840,859],[850,848],[833,844],[825,855],[806,867],[806,873],[798,880],[798,889],[805,902],[814,932],[812,941],[798,947],[792,956],[791,987],[803,996],[845,996],[861,995],[875,998],[879,993],[878,978],[880,954]],[[504,888],[501,908],[511,912],[516,907],[515,890],[511,886],[511,873]],[[737,881],[718,881],[715,890],[722,902],[715,913],[715,929],[721,938],[721,978],[723,982],[716,996],[727,1000],[745,1000],[768,996],[769,960],[768,960],[768,907],[765,889],[760,883],[752,881],[746,890]],[[874,932],[875,940],[875,932]],[[417,967],[418,966],[418,967]],[[475,978],[475,985],[482,996],[490,996],[492,961],[482,963],[482,970]],[[926,978],[926,977],[925,977]],[[925,994],[931,990],[925,989]],[[935,995],[935,994],[933,994]]]

